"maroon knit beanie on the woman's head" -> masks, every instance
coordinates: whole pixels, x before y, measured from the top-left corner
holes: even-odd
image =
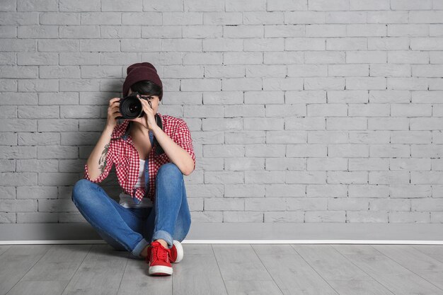
[[[127,96],[127,93],[130,92],[132,84],[139,81],[150,80],[163,88],[156,68],[149,62],[131,64],[127,67],[126,74],[127,76],[123,83],[123,97]]]

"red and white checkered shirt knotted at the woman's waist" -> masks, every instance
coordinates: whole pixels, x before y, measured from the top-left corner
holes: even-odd
[[[185,149],[185,151],[188,151],[192,157],[192,160],[194,160],[195,168],[194,148],[192,146],[192,139],[186,122],[183,119],[169,115],[161,115],[159,112],[157,112],[157,115],[159,115],[161,118],[163,132],[168,134],[168,137]],[[148,158],[145,159],[147,162],[145,165],[148,167],[148,171],[145,172],[149,173],[145,173],[145,175],[149,175],[149,177],[146,178],[148,180],[145,180],[145,182],[147,182],[146,187],[149,187],[149,192],[146,193],[145,187],[134,187],[139,178],[140,161],[139,153],[137,149],[135,149],[134,142],[129,134],[130,129],[127,128],[130,122],[132,121],[125,120],[121,124],[114,127],[108,153],[106,154],[106,166],[103,173],[96,180],[91,180],[88,174],[88,166],[85,164],[84,178],[93,183],[100,183],[106,177],[108,177],[110,169],[113,167],[113,164],[115,164],[118,183],[124,192],[127,195],[132,196],[134,201],[137,201],[136,199],[141,201],[143,197],[149,197],[149,199],[151,199],[151,201],[154,203],[156,190],[155,180],[157,172],[160,166],[164,163],[171,163],[171,159],[168,158],[164,152],[163,154],[156,155],[154,151],[155,146],[153,146]],[[152,143],[154,135],[151,131],[149,131],[149,136]]]

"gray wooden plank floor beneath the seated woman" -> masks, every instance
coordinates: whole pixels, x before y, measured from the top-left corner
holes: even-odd
[[[167,277],[108,244],[0,245],[0,295],[443,294],[443,245],[183,244]]]

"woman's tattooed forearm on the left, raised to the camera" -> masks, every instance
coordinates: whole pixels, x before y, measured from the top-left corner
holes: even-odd
[[[107,161],[112,134],[113,127],[108,127],[107,125],[86,162],[85,178],[91,180],[93,183],[100,183],[105,179],[108,176],[110,168],[113,166],[110,158],[109,161]]]

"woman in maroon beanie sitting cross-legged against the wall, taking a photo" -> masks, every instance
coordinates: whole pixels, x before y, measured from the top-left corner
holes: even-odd
[[[144,116],[117,125],[120,98],[112,98],[105,129],[84,166],[72,201],[100,236],[117,250],[149,263],[149,274],[172,274],[183,258],[181,241],[190,229],[184,175],[195,169],[185,121],[157,112],[163,84],[149,62],[127,68],[123,97],[137,92]],[[120,204],[97,183],[115,164],[124,193]]]

